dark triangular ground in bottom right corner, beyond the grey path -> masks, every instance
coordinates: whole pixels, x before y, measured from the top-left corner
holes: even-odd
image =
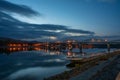
[[[120,72],[120,55],[105,66],[102,70],[98,71],[90,80],[117,80],[117,75]],[[120,80],[120,78],[118,79]]]

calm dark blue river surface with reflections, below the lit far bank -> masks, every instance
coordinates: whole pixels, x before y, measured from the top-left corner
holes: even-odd
[[[112,49],[115,50],[115,49]],[[73,50],[79,55],[78,50]],[[84,49],[84,56],[104,53],[107,49]],[[67,51],[18,51],[9,55],[0,52],[0,80],[43,80],[69,70]]]

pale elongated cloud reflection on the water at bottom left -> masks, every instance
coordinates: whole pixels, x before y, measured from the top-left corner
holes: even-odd
[[[52,67],[49,69],[41,67],[26,68],[12,73],[5,80],[43,80],[65,69],[65,67]]]

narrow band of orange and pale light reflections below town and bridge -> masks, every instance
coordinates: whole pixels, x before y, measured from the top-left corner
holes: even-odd
[[[10,45],[11,46],[11,45]],[[115,48],[111,49],[111,51],[115,50]],[[27,47],[27,46],[20,46],[19,44],[17,45],[12,45],[12,47],[2,47],[0,48],[0,53],[5,53],[7,55],[10,55],[11,53],[14,53],[14,52],[20,52],[20,51],[40,51],[40,52],[43,52],[45,54],[49,54],[49,55],[60,55],[60,54],[64,54],[66,55],[67,57],[75,57],[76,55],[86,55],[86,54],[91,54],[91,53],[98,53],[98,52],[101,52],[101,53],[106,53],[107,52],[107,49],[106,48],[103,48],[103,49],[99,49],[99,48],[92,48],[92,49],[83,49],[83,53],[80,53],[80,49],[78,48],[74,48],[72,50],[58,50],[58,49],[55,49],[55,50],[51,50],[51,49],[44,49],[44,48],[40,48],[38,46],[36,47]]]

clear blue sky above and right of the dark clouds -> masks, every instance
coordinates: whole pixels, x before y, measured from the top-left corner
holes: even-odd
[[[93,31],[101,36],[120,34],[120,0],[8,1],[28,5],[42,14],[36,21],[27,19],[29,22],[67,25]]]

